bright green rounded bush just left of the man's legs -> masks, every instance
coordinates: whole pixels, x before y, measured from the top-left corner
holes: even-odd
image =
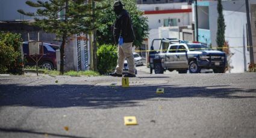
[[[116,46],[104,44],[97,50],[98,71],[100,74],[107,74],[116,67],[117,53]]]

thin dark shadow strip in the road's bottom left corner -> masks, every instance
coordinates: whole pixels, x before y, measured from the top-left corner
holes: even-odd
[[[63,134],[54,134],[54,133],[45,133],[45,132],[36,132],[33,130],[20,130],[17,128],[0,128],[0,132],[2,133],[28,133],[28,134],[38,134],[38,135],[45,135],[46,137],[69,137],[69,138],[87,138],[87,137],[78,137],[78,136],[70,136],[70,135],[63,135]]]

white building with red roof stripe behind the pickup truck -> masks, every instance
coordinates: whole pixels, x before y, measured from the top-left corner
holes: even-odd
[[[187,2],[137,4],[137,7],[144,11],[143,16],[148,17],[149,25],[148,39],[144,42],[145,46],[140,47],[140,50],[150,49],[151,42],[155,38],[180,38],[180,35],[175,34],[178,33],[178,26],[191,26],[192,24],[192,7],[187,5]],[[173,29],[174,32],[169,33]],[[142,52],[141,55],[146,57],[145,52]]]

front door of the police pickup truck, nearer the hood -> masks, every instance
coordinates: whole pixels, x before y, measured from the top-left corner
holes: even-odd
[[[175,61],[177,61],[178,68],[187,68],[187,58],[186,58],[186,47],[180,45],[175,54]]]

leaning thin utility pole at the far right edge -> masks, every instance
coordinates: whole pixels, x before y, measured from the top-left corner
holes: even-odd
[[[249,2],[248,2],[248,0],[245,0],[245,5],[246,5],[247,26],[248,26],[250,62],[251,62],[251,64],[254,64],[254,49],[252,47],[252,30],[251,30],[251,19],[250,19]]]

